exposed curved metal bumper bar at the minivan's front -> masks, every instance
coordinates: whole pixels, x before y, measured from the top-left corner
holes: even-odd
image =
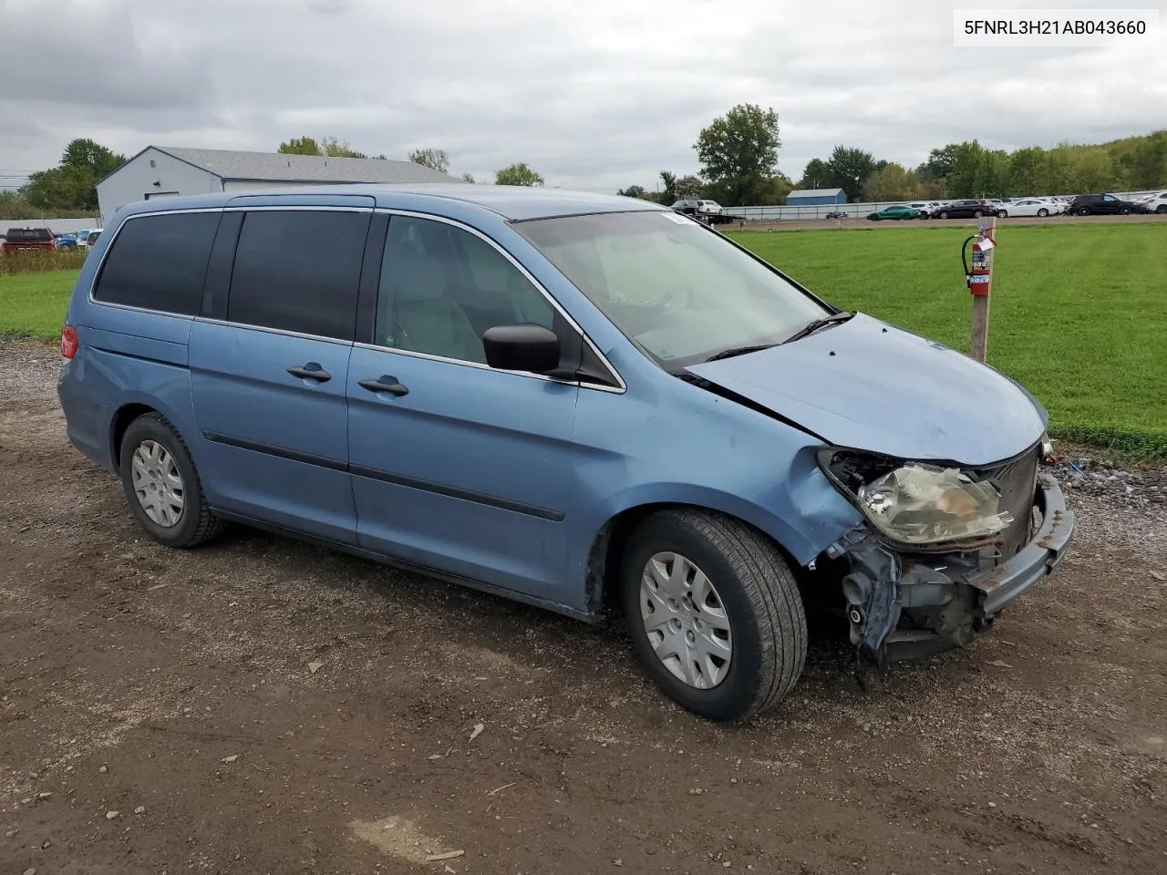
[[[1074,537],[1074,511],[1065,506],[1065,497],[1057,482],[1049,475],[1042,475],[1039,487],[1042,520],[1036,537],[999,568],[969,581],[983,594],[979,607],[986,618],[1054,570]]]

